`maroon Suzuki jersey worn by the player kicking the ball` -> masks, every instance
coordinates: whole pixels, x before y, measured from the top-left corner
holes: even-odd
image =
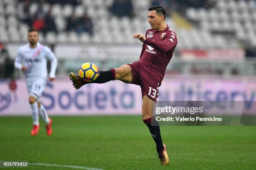
[[[162,31],[149,29],[146,31],[146,40],[143,41],[139,62],[147,67],[147,70],[154,76],[163,80],[176,45],[177,35],[169,26]]]

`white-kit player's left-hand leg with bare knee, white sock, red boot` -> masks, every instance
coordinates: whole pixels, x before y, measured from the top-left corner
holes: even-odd
[[[31,135],[37,135],[39,132],[39,116],[38,116],[38,103],[36,101],[36,96],[29,95],[28,101],[32,109],[33,117],[33,129],[31,130]]]

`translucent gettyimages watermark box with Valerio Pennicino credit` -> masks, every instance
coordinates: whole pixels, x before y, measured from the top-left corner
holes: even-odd
[[[255,112],[255,101],[158,101],[154,107],[160,125],[256,125]]]

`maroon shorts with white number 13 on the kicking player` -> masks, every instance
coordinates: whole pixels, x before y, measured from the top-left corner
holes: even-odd
[[[141,62],[136,61],[129,65],[133,70],[133,80],[131,84],[141,86],[141,94],[147,95],[151,100],[156,102],[158,97],[159,76],[148,70]]]

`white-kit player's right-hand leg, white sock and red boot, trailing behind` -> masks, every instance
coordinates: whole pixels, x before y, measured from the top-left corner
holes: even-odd
[[[51,136],[52,134],[52,119],[49,118],[46,109],[44,108],[44,105],[40,102],[38,102],[38,109],[39,109],[39,115],[41,116],[41,119],[44,120],[46,123],[46,133],[47,135]]]

